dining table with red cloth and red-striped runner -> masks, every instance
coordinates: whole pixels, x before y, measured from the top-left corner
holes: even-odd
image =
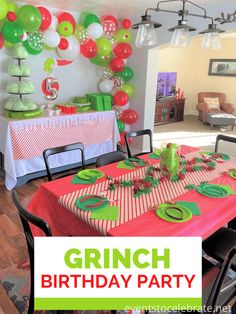
[[[201,160],[198,148],[182,145],[180,154],[186,163]],[[160,158],[145,154],[140,158],[145,166],[127,169],[119,167],[120,162],[97,168],[105,176],[92,184],[75,183],[74,176],[67,176],[40,185],[29,202],[27,209],[48,222],[54,236],[200,236],[207,238],[236,216],[236,179],[228,175],[236,168],[236,158],[215,162],[215,167],[198,167],[197,171],[187,171],[181,180],[160,180],[149,193],[134,196],[133,186],[118,186],[109,189],[109,180],[115,182],[135,181],[143,178],[147,168],[157,169],[160,179]],[[204,164],[204,163],[203,163]],[[200,165],[200,164],[199,164]],[[205,165],[205,164],[204,164]],[[114,181],[113,181],[114,182]],[[198,193],[202,183],[228,186],[233,191],[227,197],[209,197]],[[188,186],[192,186],[188,189]],[[105,196],[117,210],[113,219],[95,218],[92,211],[81,210],[77,200],[84,195]],[[197,204],[199,213],[183,222],[167,221],[159,217],[157,208],[164,203],[190,202]],[[34,236],[42,233],[32,226]]]

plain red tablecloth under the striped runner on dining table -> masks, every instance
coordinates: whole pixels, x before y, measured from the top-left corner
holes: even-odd
[[[181,153],[190,153],[195,148],[182,147]],[[156,160],[149,159],[152,163]],[[116,164],[107,165],[101,168],[107,175],[113,177],[130,172],[126,169],[117,169]],[[53,182],[42,184],[31,200],[28,210],[44,218],[51,226],[53,235],[101,235],[87,223],[83,222],[73,213],[58,203],[58,199],[68,193],[84,189],[84,185],[72,185],[71,177],[66,177]],[[221,184],[230,184],[236,190],[236,181],[226,175],[213,180]],[[219,227],[235,217],[236,196],[225,199],[213,199],[199,195],[195,191],[187,192],[181,197],[184,201],[196,201],[201,209],[202,215],[193,216],[191,221],[186,223],[169,223],[160,220],[152,211],[146,212],[131,221],[110,229],[112,236],[202,236],[216,231]],[[34,230],[35,235],[39,232]]]

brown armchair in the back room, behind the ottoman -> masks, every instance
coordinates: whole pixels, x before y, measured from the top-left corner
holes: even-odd
[[[219,107],[210,107],[206,102],[204,102],[204,98],[218,98]],[[234,112],[235,105],[225,102],[224,93],[201,92],[198,93],[198,104],[196,109],[199,112],[198,119],[203,123],[206,123],[206,114],[208,112],[226,112],[230,114]]]

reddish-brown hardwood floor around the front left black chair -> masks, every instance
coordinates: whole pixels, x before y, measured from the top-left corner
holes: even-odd
[[[29,202],[39,185],[47,179],[37,179],[17,189],[19,198],[24,206]],[[6,271],[12,265],[28,261],[28,250],[21,221],[7,191],[3,180],[0,179],[0,271]],[[1,278],[0,278],[1,279]],[[0,314],[17,314],[5,290],[0,285]]]

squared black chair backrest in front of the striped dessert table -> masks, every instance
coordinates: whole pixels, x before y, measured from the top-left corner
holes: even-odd
[[[43,152],[43,158],[46,166],[46,171],[47,171],[47,176],[48,176],[48,181],[52,181],[52,172],[50,168],[50,163],[49,163],[49,156],[55,155],[55,154],[60,154],[60,153],[65,153],[65,152],[70,152],[74,150],[79,150],[81,153],[81,163],[82,163],[82,168],[84,169],[84,144],[83,143],[75,143],[75,144],[69,144],[65,146],[59,146],[59,147],[54,147],[54,148],[48,148],[44,150]]]

